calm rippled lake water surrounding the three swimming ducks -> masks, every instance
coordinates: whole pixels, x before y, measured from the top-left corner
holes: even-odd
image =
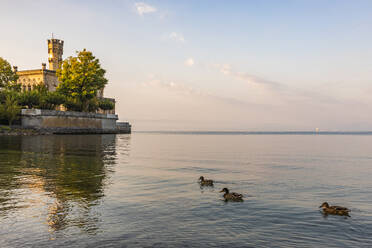
[[[43,246],[372,247],[372,136],[0,137],[0,247]]]

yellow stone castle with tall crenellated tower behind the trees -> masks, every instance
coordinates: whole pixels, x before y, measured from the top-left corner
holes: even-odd
[[[18,67],[14,66],[14,71],[19,76],[18,83],[21,84],[22,91],[31,91],[37,85],[45,85],[49,91],[55,91],[60,83],[56,75],[56,70],[62,65],[63,59],[63,40],[59,39],[48,39],[48,62],[49,68],[46,68],[46,64],[41,64],[41,69],[35,70],[22,70],[18,71]],[[103,97],[103,89],[97,93],[99,98]],[[115,99],[106,98],[115,104]],[[115,106],[115,105],[114,105]],[[99,113],[115,114],[115,108],[113,110],[99,110]]]

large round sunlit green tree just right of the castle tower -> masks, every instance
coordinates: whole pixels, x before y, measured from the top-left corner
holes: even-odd
[[[99,60],[92,52],[85,49],[76,52],[76,57],[69,57],[63,61],[62,68],[57,70],[57,91],[72,98],[74,108],[79,111],[92,111],[92,102],[97,98],[97,92],[105,87],[106,71],[101,68]],[[66,103],[68,107],[69,103]]]

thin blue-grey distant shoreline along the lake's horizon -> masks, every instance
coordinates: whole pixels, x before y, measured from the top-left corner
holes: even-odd
[[[134,131],[150,134],[187,135],[372,135],[372,131]]]

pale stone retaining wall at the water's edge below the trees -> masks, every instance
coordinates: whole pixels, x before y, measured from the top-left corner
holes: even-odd
[[[23,128],[52,133],[118,133],[117,115],[72,111],[22,109]]]

